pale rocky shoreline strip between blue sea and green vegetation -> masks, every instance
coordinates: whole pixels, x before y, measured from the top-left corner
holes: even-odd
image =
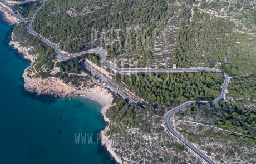
[[[31,66],[25,69],[23,73],[24,79],[24,88],[30,92],[36,92],[37,94],[51,94],[65,97],[71,95],[82,95],[86,96],[87,98],[100,103],[103,108],[101,110],[102,115],[104,116],[104,120],[109,122],[110,120],[106,118],[106,111],[112,106],[112,94],[104,88],[103,86],[94,86],[93,88],[90,87],[80,87],[79,89],[72,85],[67,85],[63,83],[60,79],[55,77],[48,77],[48,78],[35,78],[28,76],[28,69],[32,67],[33,63],[36,61],[36,56],[32,56],[29,54],[29,50],[33,47],[22,47],[19,42],[13,41],[13,34],[12,40],[9,43],[15,49],[18,50],[19,53],[23,54],[25,59],[31,61]],[[107,137],[105,136],[106,131],[109,130],[109,126],[107,125],[104,130],[101,130],[100,135],[102,138],[102,145],[106,147],[107,151],[109,151],[110,155],[116,160],[117,163],[121,163],[119,157],[117,157],[116,153],[111,147],[111,143],[108,142]]]

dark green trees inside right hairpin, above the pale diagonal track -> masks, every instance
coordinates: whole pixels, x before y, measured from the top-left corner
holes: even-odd
[[[254,108],[244,108],[241,101],[234,104],[220,101],[213,107],[194,105],[188,108],[189,110],[184,110],[179,114],[183,115],[181,118],[191,117],[190,120],[195,122],[242,133],[243,135],[232,133],[229,137],[235,142],[244,140],[251,146],[256,146],[254,138],[256,136],[254,130],[256,110]]]

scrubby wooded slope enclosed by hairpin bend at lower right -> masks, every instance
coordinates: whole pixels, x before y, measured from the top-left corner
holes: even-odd
[[[178,112],[174,120],[179,122],[176,130],[211,158],[221,163],[227,160],[254,163],[255,114],[254,107],[245,108],[240,101],[232,104],[221,101],[215,106],[189,106]]]

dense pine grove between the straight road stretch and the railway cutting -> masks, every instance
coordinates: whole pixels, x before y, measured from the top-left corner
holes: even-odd
[[[145,101],[170,106],[188,100],[214,100],[219,96],[223,76],[213,72],[139,73],[124,76],[124,82]]]

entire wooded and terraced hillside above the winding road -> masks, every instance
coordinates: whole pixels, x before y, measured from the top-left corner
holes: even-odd
[[[33,28],[69,53],[102,46],[109,59],[132,66],[178,63],[237,76],[256,70],[254,8],[251,1],[50,0]]]

